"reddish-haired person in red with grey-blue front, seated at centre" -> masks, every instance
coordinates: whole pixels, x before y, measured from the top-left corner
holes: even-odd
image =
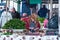
[[[34,33],[36,30],[39,30],[40,29],[40,23],[37,20],[37,15],[35,13],[33,13],[30,16],[30,19],[29,20],[30,20],[29,21],[29,29],[30,29],[30,32]]]

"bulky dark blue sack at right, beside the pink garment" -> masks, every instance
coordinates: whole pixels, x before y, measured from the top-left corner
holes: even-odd
[[[48,22],[49,29],[57,29],[58,28],[58,15],[53,16]]]

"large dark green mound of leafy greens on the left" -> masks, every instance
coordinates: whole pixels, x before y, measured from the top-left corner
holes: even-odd
[[[20,19],[12,19],[8,21],[3,27],[3,29],[25,29],[25,23]]]

